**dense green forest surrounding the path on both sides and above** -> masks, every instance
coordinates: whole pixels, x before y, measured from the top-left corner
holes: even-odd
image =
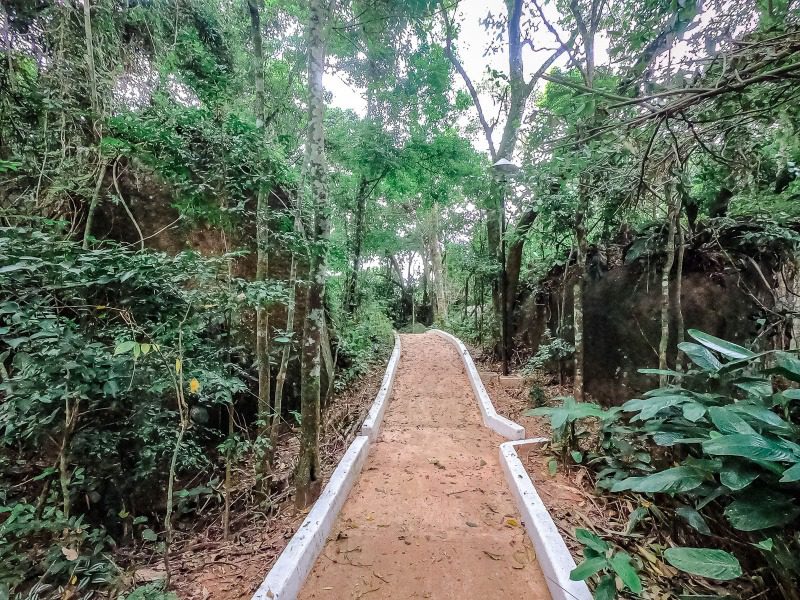
[[[0,598],[194,597],[435,326],[624,513],[597,598],[800,599],[796,0],[0,7]]]

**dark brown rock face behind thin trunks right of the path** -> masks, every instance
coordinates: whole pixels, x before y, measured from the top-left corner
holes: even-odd
[[[701,233],[689,244],[681,290],[685,328],[744,344],[758,338],[760,347],[770,346],[780,329],[775,325],[780,318],[773,312],[775,289],[790,256],[780,248],[748,247],[741,240],[733,233]],[[624,251],[618,252],[616,264],[607,270],[590,268],[586,280],[585,385],[591,398],[604,405],[619,405],[657,385],[655,377],[637,370],[658,366],[664,257],[658,251],[639,253],[636,244],[617,248]],[[546,332],[572,343],[572,281],[558,267],[528,292],[514,315],[517,347],[535,354],[548,341]],[[670,367],[675,364],[676,329],[672,314]],[[551,368],[569,373],[571,360]]]

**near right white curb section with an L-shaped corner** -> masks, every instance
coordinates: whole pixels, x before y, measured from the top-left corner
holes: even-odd
[[[528,537],[536,549],[552,599],[592,600],[592,594],[585,582],[572,581],[569,578],[570,571],[575,568],[575,561],[517,455],[516,446],[547,441],[547,438],[532,438],[503,442],[500,444],[500,464],[522,515]]]

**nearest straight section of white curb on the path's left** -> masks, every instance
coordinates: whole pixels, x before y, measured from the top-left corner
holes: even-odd
[[[252,600],[294,600],[325,547],[339,511],[364,466],[369,438],[359,435],[350,444],[322,495],[289,540]]]

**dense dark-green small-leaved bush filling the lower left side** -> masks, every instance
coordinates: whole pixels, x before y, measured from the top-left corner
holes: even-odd
[[[13,490],[0,507],[0,583],[84,571],[97,583],[97,568],[115,571],[102,558],[111,536],[164,510],[176,358],[198,382],[186,391],[194,407],[234,402],[247,389],[236,306],[271,292],[218,277],[227,258],[85,251],[58,231],[3,228],[0,256],[0,465]],[[195,424],[178,472],[211,479],[222,438]]]

